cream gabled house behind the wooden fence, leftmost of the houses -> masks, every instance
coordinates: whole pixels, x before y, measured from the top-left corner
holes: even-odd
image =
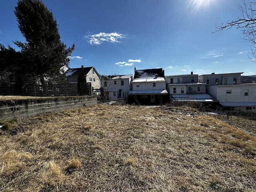
[[[94,92],[100,89],[100,74],[94,67],[81,66],[81,68],[69,68],[66,70],[66,72],[64,72],[64,75],[66,75],[66,81],[68,83],[77,83],[81,69],[84,71],[86,82],[91,83],[92,91]]]

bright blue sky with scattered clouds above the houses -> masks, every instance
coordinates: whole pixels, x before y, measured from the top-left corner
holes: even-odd
[[[62,42],[75,44],[70,67],[100,74],[134,74],[163,68],[165,75],[256,74],[251,44],[240,29],[216,24],[242,16],[240,0],[44,0]],[[0,0],[0,43],[24,42],[14,15],[16,0]],[[16,48],[17,50],[17,48]]]

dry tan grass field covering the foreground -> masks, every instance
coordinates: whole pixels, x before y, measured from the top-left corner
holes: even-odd
[[[256,191],[256,138],[192,108],[97,104],[2,129],[3,192]]]

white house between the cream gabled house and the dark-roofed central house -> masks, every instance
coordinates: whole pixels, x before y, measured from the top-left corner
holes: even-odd
[[[108,93],[110,100],[126,98],[131,89],[132,74],[108,76],[102,81],[104,91]]]

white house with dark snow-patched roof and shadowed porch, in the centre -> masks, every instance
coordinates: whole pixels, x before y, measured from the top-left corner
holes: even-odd
[[[127,94],[128,103],[136,104],[164,104],[168,102],[164,70],[134,68],[134,78],[131,82],[132,90]]]

